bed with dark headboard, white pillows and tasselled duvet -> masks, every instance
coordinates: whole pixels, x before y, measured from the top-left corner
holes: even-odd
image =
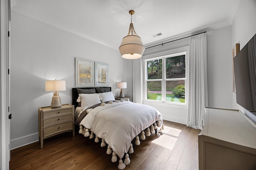
[[[130,164],[132,140],[140,145],[154,131],[162,133],[162,115],[151,106],[115,100],[111,87],[72,88],[72,104],[76,108],[79,133],[107,147],[118,168]],[[119,157],[119,160],[118,160]]]

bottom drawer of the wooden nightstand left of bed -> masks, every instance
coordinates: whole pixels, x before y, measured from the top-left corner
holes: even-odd
[[[70,130],[73,129],[73,121],[66,122],[66,123],[60,123],[57,125],[53,125],[53,126],[44,128],[44,137],[52,135],[54,133],[65,131],[68,129],[70,129]]]

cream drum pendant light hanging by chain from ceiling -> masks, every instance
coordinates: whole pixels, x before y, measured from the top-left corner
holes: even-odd
[[[145,47],[133,27],[132,15],[134,14],[134,10],[130,10],[129,14],[131,15],[129,32],[128,35],[123,38],[119,51],[124,59],[138,59],[142,57]]]

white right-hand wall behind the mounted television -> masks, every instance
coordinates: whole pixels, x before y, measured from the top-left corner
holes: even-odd
[[[232,24],[232,45],[240,44],[242,49],[256,34],[256,0],[242,0]],[[233,92],[233,108],[240,109],[256,122],[256,116],[236,104],[236,93]]]

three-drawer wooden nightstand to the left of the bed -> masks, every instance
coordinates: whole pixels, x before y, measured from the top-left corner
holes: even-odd
[[[74,126],[74,105],[63,104],[59,108],[39,107],[38,108],[38,133],[43,148],[43,140],[63,132],[73,131]]]

